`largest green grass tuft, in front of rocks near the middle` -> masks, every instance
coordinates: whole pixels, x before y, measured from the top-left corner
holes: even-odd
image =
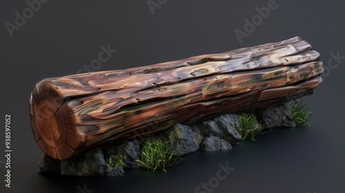
[[[172,143],[164,139],[152,139],[144,143],[140,159],[137,160],[139,167],[155,172],[163,170],[179,163],[182,159],[179,154],[172,150]]]

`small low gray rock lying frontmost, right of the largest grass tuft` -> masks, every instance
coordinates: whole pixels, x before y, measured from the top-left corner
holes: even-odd
[[[224,139],[219,139],[217,136],[208,136],[201,143],[200,149],[206,152],[214,152],[221,150],[231,150],[233,149],[233,147],[230,143],[228,143],[228,141],[225,141]]]

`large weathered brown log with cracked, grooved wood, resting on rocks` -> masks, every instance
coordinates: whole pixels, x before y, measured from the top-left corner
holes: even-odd
[[[313,94],[324,71],[299,37],[126,70],[44,79],[30,98],[34,139],[55,159]]]

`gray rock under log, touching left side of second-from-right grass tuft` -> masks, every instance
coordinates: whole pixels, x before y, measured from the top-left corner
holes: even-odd
[[[235,125],[239,125],[237,114],[222,114],[215,119],[217,127],[223,132],[223,139],[230,143],[239,143],[242,136],[237,132]]]

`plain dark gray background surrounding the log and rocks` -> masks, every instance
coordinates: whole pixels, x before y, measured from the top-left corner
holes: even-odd
[[[155,1],[155,0],[154,0]],[[155,1],[156,2],[156,1]],[[345,56],[344,1],[282,1],[267,19],[239,43],[234,30],[244,30],[256,7],[268,1],[172,1],[155,14],[147,1],[48,1],[10,37],[5,23],[26,1],[0,3],[1,116],[12,116],[12,187],[6,192],[194,192],[215,176],[218,164],[235,167],[213,192],[345,192],[344,63],[328,70],[324,82],[306,101],[314,112],[311,126],[277,129],[257,141],[233,145],[228,152],[185,156],[168,173],[139,170],[126,176],[86,178],[43,175],[37,168],[41,150],[34,142],[28,100],[35,83],[75,74],[90,65],[101,45],[117,50],[98,70],[118,70],[197,54],[281,41],[299,36],[321,54]],[[5,121],[3,121],[5,125]],[[0,132],[1,150],[4,126]],[[4,154],[4,153],[1,153]],[[4,161],[4,156],[0,156]]]

